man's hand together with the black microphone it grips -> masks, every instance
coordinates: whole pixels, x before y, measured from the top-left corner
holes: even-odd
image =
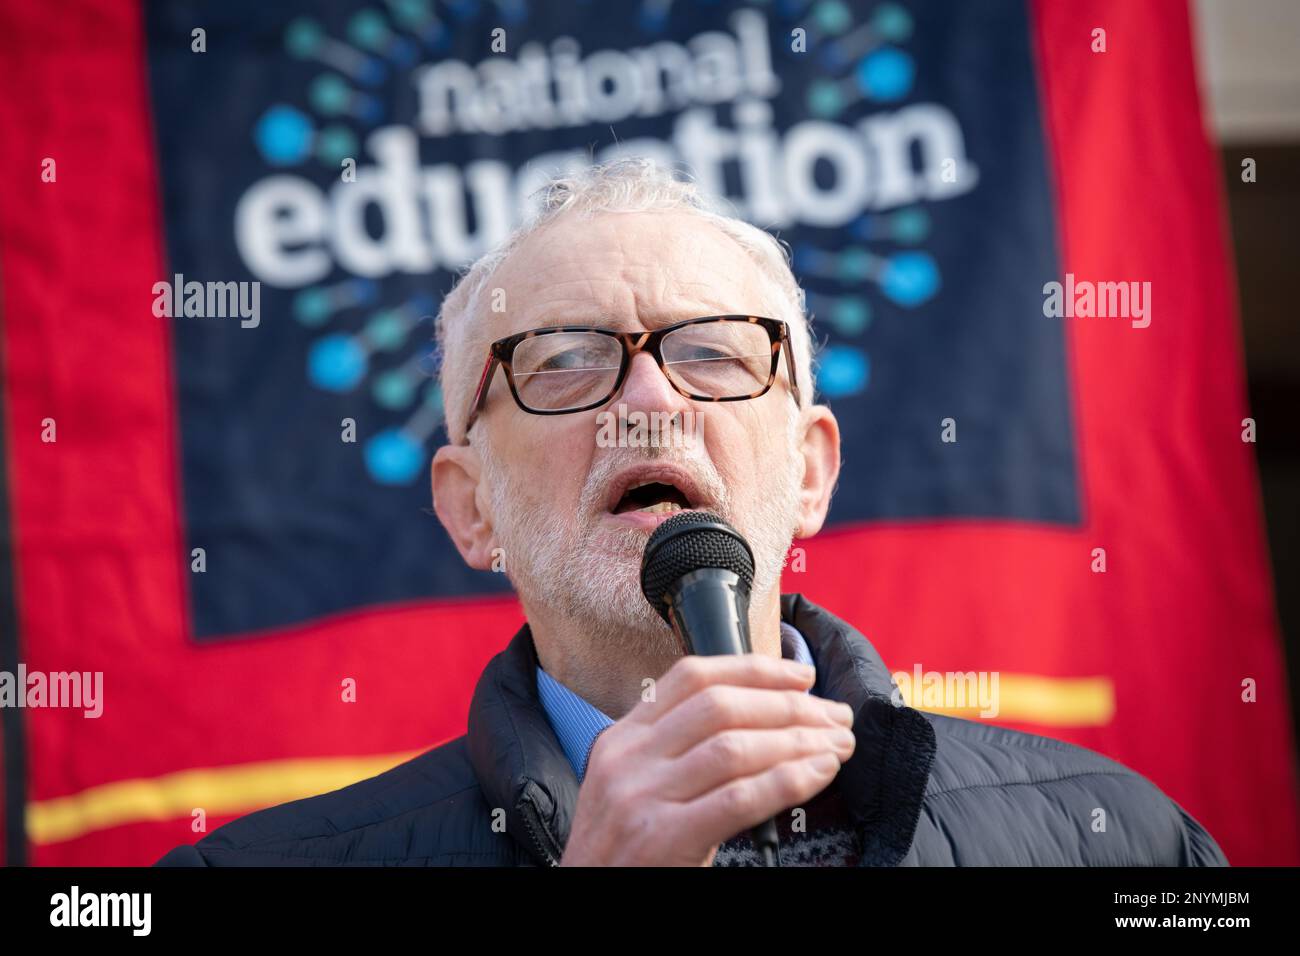
[[[692,653],[597,739],[562,866],[710,866],[718,845],[811,799],[854,748],[852,709],[807,693],[812,669],[749,653],[753,558],[688,511],[646,545],[642,588]]]

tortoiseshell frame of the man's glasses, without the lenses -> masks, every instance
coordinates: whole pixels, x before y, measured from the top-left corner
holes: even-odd
[[[663,339],[677,329],[682,329],[689,325],[702,325],[705,323],[748,323],[758,325],[767,332],[768,342],[772,349],[772,362],[767,369],[767,381],[764,381],[760,388],[736,395],[719,397],[697,394],[688,390],[681,382],[676,381],[672,375],[668,375],[668,369],[664,367],[663,352],[660,351]],[[608,392],[598,401],[585,402],[582,405],[566,408],[533,408],[520,397],[515,382],[515,349],[521,342],[528,339],[540,338],[542,336],[554,336],[564,332],[590,332],[618,339],[621,346],[621,360],[619,363],[618,376],[614,378]],[[597,325],[549,325],[541,329],[517,332],[514,336],[498,338],[488,346],[488,360],[484,363],[482,375],[478,377],[478,388],[474,392],[474,401],[469,407],[469,419],[465,421],[465,438],[462,440],[460,444],[469,444],[469,429],[473,428],[474,421],[478,419],[478,414],[482,411],[482,407],[488,401],[488,390],[498,365],[506,369],[506,382],[510,385],[510,394],[514,395],[515,405],[517,405],[523,411],[529,415],[571,415],[573,412],[599,408],[602,405],[614,398],[619,393],[619,389],[623,388],[624,380],[628,377],[628,369],[632,367],[632,359],[641,351],[650,352],[655,363],[659,365],[659,371],[663,372],[664,377],[668,380],[668,384],[672,385],[679,394],[682,394],[686,398],[697,402],[744,402],[750,398],[764,395],[772,388],[772,384],[776,381],[776,372],[780,368],[783,350],[785,351],[786,373],[790,378],[790,397],[794,399],[794,403],[798,405],[800,386],[794,372],[794,345],[790,339],[789,325],[780,319],[767,319],[754,315],[707,315],[701,316],[699,319],[686,319],[685,321],[673,323],[672,325],[666,325],[662,329],[655,329],[653,332],[618,332],[615,329],[604,329]]]

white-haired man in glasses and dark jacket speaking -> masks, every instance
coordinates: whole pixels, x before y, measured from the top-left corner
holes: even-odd
[[[904,706],[861,633],[781,594],[840,433],[771,235],[650,163],[597,166],[469,269],[438,337],[434,507],[528,623],[464,736],[161,865],[1227,864],[1098,753]],[[737,653],[647,600],[647,542],[697,519],[744,558]],[[710,570],[682,541],[682,572]]]

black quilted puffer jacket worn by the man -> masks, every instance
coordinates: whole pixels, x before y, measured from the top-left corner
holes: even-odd
[[[837,786],[875,866],[1223,866],[1213,838],[1144,777],[1048,737],[894,706],[867,640],[781,597],[814,692],[857,714]],[[537,696],[525,624],[474,689],[468,732],[387,773],[228,823],[160,866],[554,865],[578,782]],[[504,810],[506,832],[493,826]],[[1095,810],[1106,816],[1095,832]],[[497,814],[499,818],[500,814]]]

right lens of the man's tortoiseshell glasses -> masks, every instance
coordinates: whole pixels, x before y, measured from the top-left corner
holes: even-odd
[[[772,339],[762,325],[738,319],[682,325],[664,336],[663,362],[692,394],[745,398],[772,377]]]

